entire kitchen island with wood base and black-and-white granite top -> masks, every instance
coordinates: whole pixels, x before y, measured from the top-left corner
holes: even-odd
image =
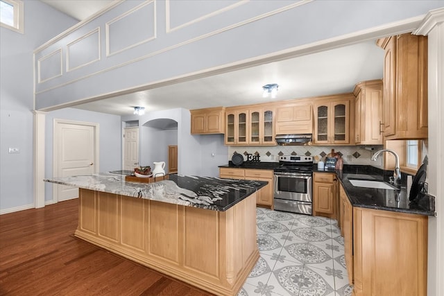
[[[266,182],[170,175],[151,184],[99,173],[45,180],[79,188],[75,236],[216,295],[253,269],[256,191]]]

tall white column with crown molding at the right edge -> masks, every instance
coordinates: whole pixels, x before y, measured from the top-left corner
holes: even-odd
[[[429,217],[427,295],[444,295],[444,8],[431,10],[413,32],[428,36],[429,193],[436,196],[436,217]]]

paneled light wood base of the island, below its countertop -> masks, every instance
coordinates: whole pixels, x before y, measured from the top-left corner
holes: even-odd
[[[236,295],[259,258],[255,193],[227,211],[80,189],[75,235],[218,295]]]

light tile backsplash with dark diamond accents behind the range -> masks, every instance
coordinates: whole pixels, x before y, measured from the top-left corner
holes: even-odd
[[[367,150],[373,148],[374,150]],[[325,157],[334,149],[335,153],[341,153],[344,164],[371,165],[382,168],[383,157],[373,162],[370,160],[375,151],[383,146],[230,146],[228,148],[228,160],[231,160],[233,153],[260,155],[261,162],[279,162],[280,155],[309,155],[319,158]]]

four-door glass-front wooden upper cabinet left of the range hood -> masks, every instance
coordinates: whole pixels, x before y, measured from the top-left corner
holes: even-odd
[[[225,110],[225,145],[275,146],[275,109],[249,105]]]

